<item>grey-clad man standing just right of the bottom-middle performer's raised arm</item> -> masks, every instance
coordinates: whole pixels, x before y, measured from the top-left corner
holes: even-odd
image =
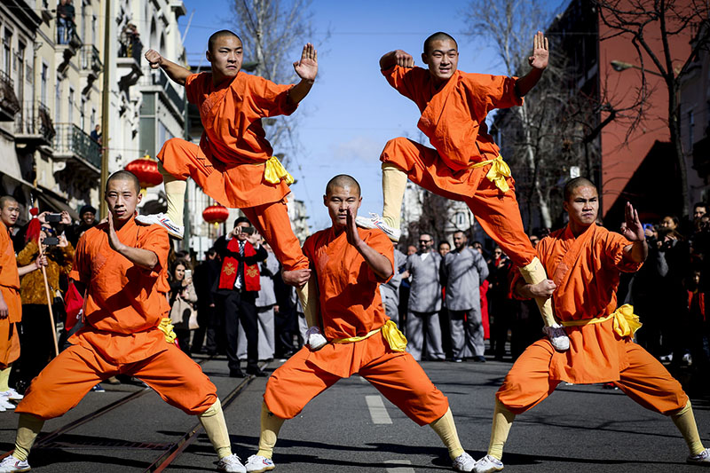
[[[424,340],[429,359],[446,359],[441,347],[441,327],[438,323],[438,311],[441,310],[441,284],[438,280],[441,256],[431,250],[433,244],[431,235],[422,233],[419,237],[419,251],[406,258],[406,271],[412,276],[406,316],[406,351],[417,361],[422,359]]]

